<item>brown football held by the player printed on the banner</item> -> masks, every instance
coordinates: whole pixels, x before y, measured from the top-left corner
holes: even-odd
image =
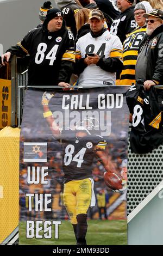
[[[121,190],[123,188],[121,176],[115,173],[105,172],[104,181],[111,190]]]

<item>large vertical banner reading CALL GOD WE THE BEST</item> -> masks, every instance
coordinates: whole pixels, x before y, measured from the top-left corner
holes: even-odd
[[[28,90],[21,245],[126,245],[126,87]]]

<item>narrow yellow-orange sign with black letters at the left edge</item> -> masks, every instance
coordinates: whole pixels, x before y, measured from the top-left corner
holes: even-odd
[[[0,79],[0,129],[11,125],[11,81]]]

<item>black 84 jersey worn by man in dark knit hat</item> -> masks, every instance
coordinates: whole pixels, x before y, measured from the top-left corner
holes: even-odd
[[[65,27],[65,21],[57,32],[48,32],[44,25],[33,29],[8,52],[16,56],[29,54],[29,86],[56,86],[59,82],[70,82],[75,42],[72,32]]]

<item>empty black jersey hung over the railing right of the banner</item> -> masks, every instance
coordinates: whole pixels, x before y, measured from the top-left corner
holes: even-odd
[[[130,132],[131,152],[145,154],[163,143],[162,112],[155,88],[131,86],[126,93],[129,111],[133,114]]]

